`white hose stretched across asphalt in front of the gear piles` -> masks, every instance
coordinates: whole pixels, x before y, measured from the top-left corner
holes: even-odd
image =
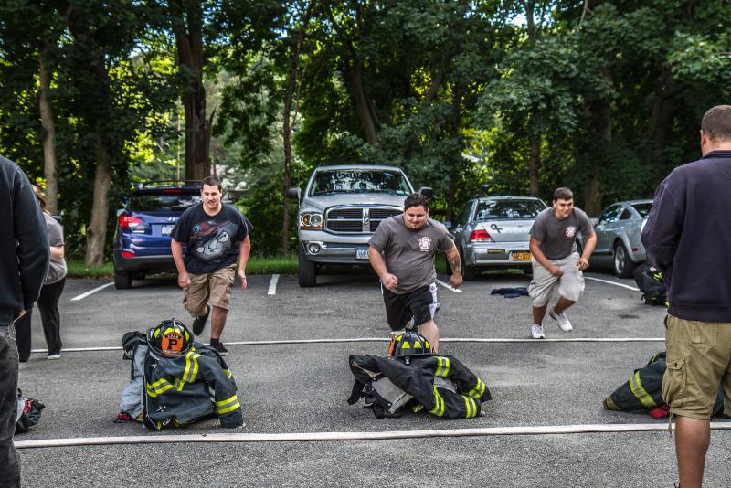
[[[673,424],[670,424],[673,426]],[[673,426],[674,427],[674,426]],[[181,435],[139,435],[79,437],[68,439],[16,440],[16,449],[71,447],[113,444],[167,444],[186,442],[307,442],[343,440],[424,439],[437,437],[480,437],[504,435],[555,435],[617,432],[664,432],[665,422],[653,424],[585,424],[486,427],[482,429],[385,430],[381,432],[285,432],[281,434],[206,433]],[[731,430],[731,422],[711,422],[713,430]]]

